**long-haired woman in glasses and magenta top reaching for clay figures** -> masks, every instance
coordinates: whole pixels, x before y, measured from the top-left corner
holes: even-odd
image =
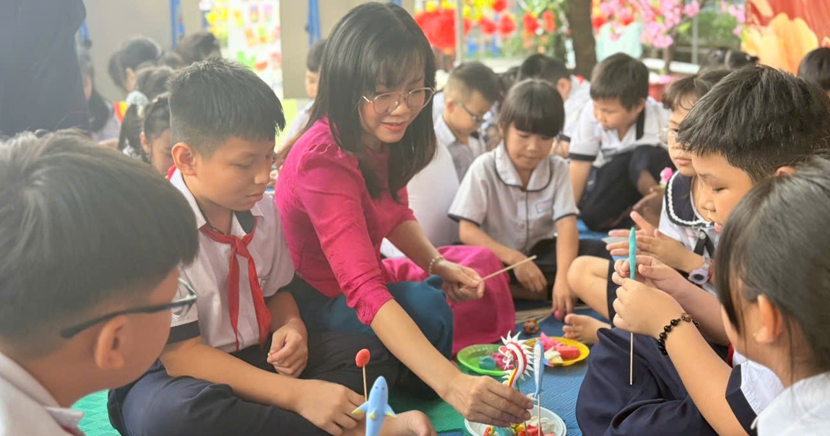
[[[399,388],[434,390],[467,419],[506,427],[530,419],[530,399],[447,359],[447,297],[481,298],[484,283],[441,257],[408,208],[406,184],[436,150],[434,85],[432,50],[403,8],[366,3],[334,27],[309,125],[284,150],[276,184],[291,256],[310,284],[293,293],[304,319],[377,335],[408,368]],[[432,277],[389,283],[383,238]]]

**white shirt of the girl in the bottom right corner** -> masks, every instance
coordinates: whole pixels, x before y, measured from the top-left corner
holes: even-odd
[[[830,373],[799,380],[758,415],[758,436],[830,434]]]

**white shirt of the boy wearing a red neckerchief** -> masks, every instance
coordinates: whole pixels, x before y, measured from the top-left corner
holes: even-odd
[[[207,225],[196,199],[184,184],[178,169],[170,182],[187,198],[190,208],[196,215],[196,227]],[[266,299],[276,294],[294,278],[294,263],[282,233],[279,212],[274,198],[265,196],[251,208],[251,215],[256,220],[256,230],[248,251],[256,263],[256,275]],[[231,234],[242,238],[245,231],[234,215]],[[173,317],[170,340],[186,340],[201,335],[206,345],[226,352],[237,350],[231,326],[230,312],[227,308],[227,274],[230,269],[231,246],[212,240],[199,231],[199,251],[196,259],[188,266],[179,267],[179,277],[190,283],[198,298],[196,304],[181,317]],[[239,261],[239,349],[259,345],[259,325],[251,298],[251,284],[248,280],[247,260],[237,255]]]

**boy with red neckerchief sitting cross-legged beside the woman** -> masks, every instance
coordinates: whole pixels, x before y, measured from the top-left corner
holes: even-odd
[[[184,68],[169,86],[170,182],[198,228],[198,256],[181,272],[198,302],[173,319],[160,361],[110,392],[110,421],[121,434],[164,436],[358,431],[354,356],[370,350],[369,380],[395,380],[398,363],[374,337],[317,333],[315,319],[307,328],[285,291],[294,264],[265,194],[280,100],[222,59]]]

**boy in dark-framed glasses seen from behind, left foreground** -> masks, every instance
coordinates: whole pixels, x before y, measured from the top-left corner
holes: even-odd
[[[193,228],[154,169],[80,132],[0,144],[0,435],[83,434],[71,405],[147,370],[195,301]]]

